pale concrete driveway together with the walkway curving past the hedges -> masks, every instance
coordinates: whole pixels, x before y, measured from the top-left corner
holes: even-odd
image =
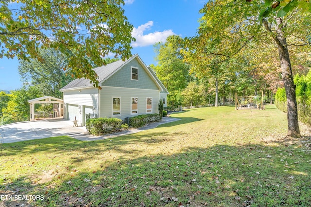
[[[91,141],[133,134],[143,130],[155,128],[161,124],[178,121],[180,119],[163,117],[161,122],[150,123],[145,127],[122,131],[103,136],[89,135],[86,127],[73,127],[73,122],[64,119],[19,122],[0,126],[0,143],[13,143],[26,140],[68,135],[78,140]]]

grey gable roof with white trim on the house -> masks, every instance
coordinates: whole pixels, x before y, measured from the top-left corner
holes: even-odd
[[[125,64],[128,64],[130,61],[132,61],[134,58],[138,60],[138,62],[145,68],[149,76],[151,77],[152,80],[154,80],[155,84],[161,91],[165,91],[168,93],[164,85],[161,83],[161,81],[156,77],[154,71],[150,68],[147,67],[146,64],[141,60],[138,54],[133,55],[130,59],[127,59],[126,61],[116,61],[107,65],[103,65],[101,67],[94,68],[93,70],[96,72],[98,75],[98,82],[101,84],[108,78],[110,78],[113,74],[118,72]],[[74,90],[74,89],[82,89],[82,88],[94,88],[93,84],[90,83],[90,80],[81,78],[81,79],[75,79],[71,81],[69,84],[64,86],[63,88],[60,89],[60,91],[67,91],[67,90]]]

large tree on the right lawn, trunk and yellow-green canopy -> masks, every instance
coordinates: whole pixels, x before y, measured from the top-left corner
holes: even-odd
[[[287,96],[289,137],[300,137],[300,131],[288,47],[311,44],[310,11],[311,3],[305,0],[210,0],[200,11],[197,45],[208,43],[209,55],[219,62],[238,54],[250,42],[276,44]]]

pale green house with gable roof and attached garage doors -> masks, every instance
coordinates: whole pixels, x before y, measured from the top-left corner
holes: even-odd
[[[84,126],[91,118],[115,117],[124,120],[141,114],[158,113],[159,100],[164,107],[168,91],[155,72],[138,56],[95,68],[101,90],[90,80],[75,79],[60,89],[63,92],[64,118],[78,120]]]

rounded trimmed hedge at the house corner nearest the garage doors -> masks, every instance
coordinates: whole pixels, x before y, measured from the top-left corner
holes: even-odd
[[[86,120],[86,129],[93,135],[106,134],[121,128],[123,121],[117,118],[96,118]]]

